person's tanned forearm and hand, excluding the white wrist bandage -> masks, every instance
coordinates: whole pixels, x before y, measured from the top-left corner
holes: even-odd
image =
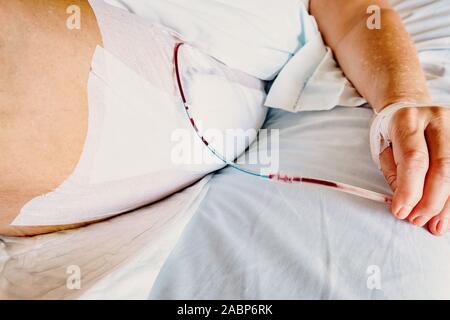
[[[381,28],[369,29],[367,9],[381,9]],[[380,156],[394,190],[392,212],[434,234],[449,229],[450,109],[431,103],[416,49],[387,0],[311,0],[325,41],[344,73],[377,111],[411,101],[430,105],[397,111],[392,148]]]

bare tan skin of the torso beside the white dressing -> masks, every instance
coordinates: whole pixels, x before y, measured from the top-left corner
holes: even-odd
[[[81,8],[69,30],[68,6]],[[73,226],[16,228],[36,196],[58,187],[83,150],[87,79],[100,31],[87,1],[0,0],[0,234],[34,235]]]

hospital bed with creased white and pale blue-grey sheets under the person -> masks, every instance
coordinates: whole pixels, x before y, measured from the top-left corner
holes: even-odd
[[[449,2],[392,2],[439,83],[433,94],[448,95]],[[271,110],[264,127],[279,130],[282,172],[389,193],[370,159],[371,116]],[[449,236],[384,204],[232,168],[102,223],[0,239],[2,299],[450,298]]]

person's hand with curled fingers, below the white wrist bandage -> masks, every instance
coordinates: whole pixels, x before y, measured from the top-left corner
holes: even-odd
[[[435,235],[450,230],[450,109],[404,108],[389,128],[392,147],[380,155],[394,191],[392,212]]]

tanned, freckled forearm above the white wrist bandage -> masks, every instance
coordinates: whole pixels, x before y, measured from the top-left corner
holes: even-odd
[[[367,27],[371,4],[381,9],[380,29]],[[331,13],[340,6],[343,14]],[[375,110],[403,100],[431,103],[415,46],[385,1],[312,0],[311,13],[345,75]]]

